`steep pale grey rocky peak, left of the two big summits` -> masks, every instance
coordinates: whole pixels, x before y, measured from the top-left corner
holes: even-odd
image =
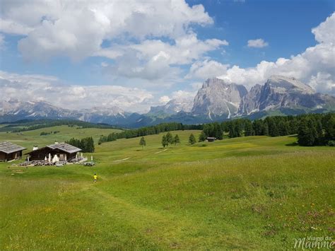
[[[192,113],[212,117],[230,118],[237,112],[242,98],[247,94],[244,86],[209,78],[194,98]]]

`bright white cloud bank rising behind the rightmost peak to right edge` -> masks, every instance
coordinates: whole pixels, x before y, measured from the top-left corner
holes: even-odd
[[[317,45],[305,52],[290,57],[279,58],[276,62],[262,61],[251,68],[233,66],[219,76],[225,81],[240,83],[247,87],[264,83],[269,76],[280,74],[293,76],[310,84],[318,92],[335,94],[335,13],[326,21],[312,29]]]

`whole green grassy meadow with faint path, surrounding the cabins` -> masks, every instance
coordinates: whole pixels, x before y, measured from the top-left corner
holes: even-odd
[[[40,132],[60,131],[40,136]],[[0,133],[27,148],[111,129]],[[96,146],[94,168],[0,163],[0,249],[291,249],[334,240],[334,148],[249,136],[163,149],[162,134]],[[10,166],[10,168],[8,168]],[[93,183],[93,173],[98,182]]]

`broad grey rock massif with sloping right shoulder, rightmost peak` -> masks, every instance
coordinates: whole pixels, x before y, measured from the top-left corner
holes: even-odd
[[[295,78],[271,76],[264,86],[254,86],[242,99],[239,115],[281,108],[318,109],[334,101],[334,97],[315,91]]]

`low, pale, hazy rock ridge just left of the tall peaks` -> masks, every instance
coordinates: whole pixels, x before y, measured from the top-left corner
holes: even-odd
[[[170,100],[165,105],[158,105],[151,107],[151,114],[163,112],[168,115],[175,114],[177,112],[191,112],[193,106],[192,98],[177,98]]]

